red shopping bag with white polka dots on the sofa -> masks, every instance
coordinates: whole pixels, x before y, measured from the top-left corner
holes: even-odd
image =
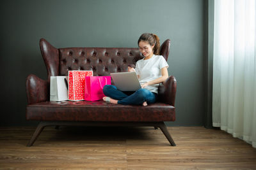
[[[68,100],[84,100],[84,83],[86,76],[93,76],[93,71],[68,71]]]

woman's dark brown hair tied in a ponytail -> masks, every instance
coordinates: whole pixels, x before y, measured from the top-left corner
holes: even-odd
[[[140,41],[147,41],[149,45],[155,45],[153,48],[153,52],[155,55],[159,55],[160,52],[160,39],[156,34],[143,33],[138,39],[138,45]]]

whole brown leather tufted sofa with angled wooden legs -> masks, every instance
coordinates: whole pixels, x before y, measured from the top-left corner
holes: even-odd
[[[49,101],[51,76],[67,76],[68,70],[92,70],[93,76],[127,71],[129,64],[142,59],[138,48],[55,48],[40,39],[40,49],[48,78],[42,80],[30,74],[26,80],[28,105],[26,119],[40,121],[27,146],[32,146],[46,126],[152,126],[159,127],[172,146],[166,121],[175,121],[176,80],[170,76],[159,85],[159,101],[148,106],[111,104],[104,101]],[[160,54],[167,60],[170,39],[161,45]]]

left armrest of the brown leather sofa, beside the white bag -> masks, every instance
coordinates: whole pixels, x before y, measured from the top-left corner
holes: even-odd
[[[26,92],[28,104],[47,101],[47,81],[38,78],[34,74],[29,74],[26,80]]]

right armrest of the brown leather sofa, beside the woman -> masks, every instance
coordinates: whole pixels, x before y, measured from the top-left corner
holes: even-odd
[[[159,85],[159,101],[175,106],[177,81],[174,76],[169,76]]]

